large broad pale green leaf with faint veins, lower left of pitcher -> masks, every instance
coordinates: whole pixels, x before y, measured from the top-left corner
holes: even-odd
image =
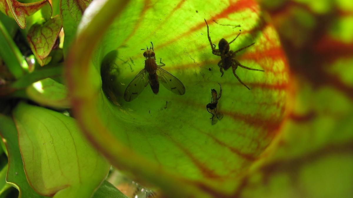
[[[13,117],[31,186],[55,198],[90,197],[110,166],[82,137],[74,119],[24,103]]]

